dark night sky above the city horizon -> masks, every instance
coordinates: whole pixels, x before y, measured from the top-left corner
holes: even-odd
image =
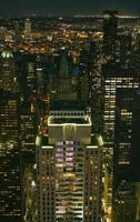
[[[0,14],[7,13],[96,13],[103,9],[140,14],[140,0],[0,0]]]

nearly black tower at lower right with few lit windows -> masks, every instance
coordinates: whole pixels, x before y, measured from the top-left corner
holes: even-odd
[[[117,89],[113,154],[113,221],[137,221],[140,193],[140,90]],[[139,218],[140,219],[140,218]]]

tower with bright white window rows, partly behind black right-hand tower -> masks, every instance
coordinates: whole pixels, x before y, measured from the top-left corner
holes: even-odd
[[[113,149],[114,149],[114,120],[116,120],[116,99],[118,89],[139,89],[139,72],[133,69],[122,69],[120,65],[104,65],[102,68],[104,84],[104,114],[103,134],[106,150],[106,209],[111,211],[112,205],[112,176],[113,176]]]

